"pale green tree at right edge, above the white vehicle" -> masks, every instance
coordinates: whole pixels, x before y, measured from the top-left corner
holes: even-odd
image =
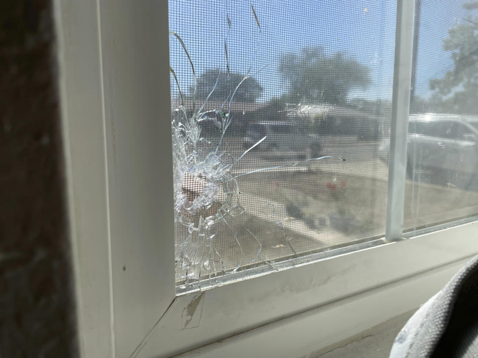
[[[468,10],[478,8],[478,1],[463,5]],[[478,111],[478,18],[471,15],[448,30],[443,49],[452,52],[453,70],[443,78],[431,79],[433,97],[442,102],[442,108],[458,113]]]

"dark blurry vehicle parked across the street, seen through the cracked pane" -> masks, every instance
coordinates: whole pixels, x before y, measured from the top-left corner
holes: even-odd
[[[257,146],[262,157],[313,159],[321,155],[319,136],[311,134],[308,125],[301,121],[253,122],[247,127],[242,146],[250,148],[265,136],[267,138]]]

